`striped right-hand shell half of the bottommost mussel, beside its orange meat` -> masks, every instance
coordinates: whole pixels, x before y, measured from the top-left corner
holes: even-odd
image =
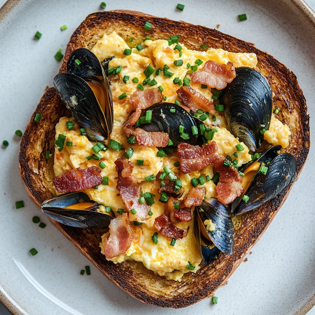
[[[234,243],[234,225],[228,210],[216,198],[204,199],[201,206],[196,208],[202,223],[205,220],[211,220],[215,224],[214,231],[207,231],[205,226],[203,226],[199,228],[200,233],[204,229],[203,231],[208,233],[209,238],[217,249],[224,254],[231,255]],[[201,238],[203,241],[207,241],[207,238]],[[209,241],[206,244],[212,245]]]

